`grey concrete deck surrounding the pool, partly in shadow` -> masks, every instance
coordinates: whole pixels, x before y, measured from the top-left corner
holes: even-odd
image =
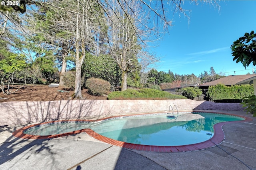
[[[256,117],[241,111],[214,112],[242,115],[252,121],[223,125],[220,130],[223,129],[225,136],[218,146],[166,153],[122,148],[101,142],[86,132],[51,139],[22,139],[13,137],[12,132],[27,125],[2,126],[0,169],[256,170]],[[104,116],[86,119],[104,119]]]

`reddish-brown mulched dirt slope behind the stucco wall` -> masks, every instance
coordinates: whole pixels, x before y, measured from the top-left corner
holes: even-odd
[[[15,91],[19,86],[14,86]],[[0,90],[0,103],[7,101],[54,101],[54,100],[70,100],[74,91],[64,87],[48,87],[48,85],[25,85],[15,93],[4,95]],[[64,92],[63,92],[64,91]],[[88,89],[82,89],[84,99],[107,99],[106,96],[89,95]]]

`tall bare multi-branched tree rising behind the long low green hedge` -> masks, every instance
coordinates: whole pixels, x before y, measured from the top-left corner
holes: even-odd
[[[127,73],[142,67],[145,69],[158,58],[146,50],[152,33],[141,24],[146,25],[146,14],[141,12],[140,2],[113,0],[105,2],[104,5],[103,8],[109,9],[106,20],[108,45],[122,71],[121,90],[124,91],[127,89]]]

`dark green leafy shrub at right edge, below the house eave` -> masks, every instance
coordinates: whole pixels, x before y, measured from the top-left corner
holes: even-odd
[[[255,95],[244,97],[241,104],[243,105],[243,107],[246,107],[246,109],[244,109],[246,113],[252,113],[253,117],[256,117],[256,96]]]

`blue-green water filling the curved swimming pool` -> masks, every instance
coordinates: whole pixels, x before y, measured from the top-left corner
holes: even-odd
[[[206,141],[213,136],[213,126],[225,121],[244,120],[230,115],[186,113],[174,115],[126,117],[102,123],[58,123],[26,130],[26,134],[52,135],[91,128],[115,140],[144,145],[179,146]],[[212,135],[210,135],[212,134]]]

